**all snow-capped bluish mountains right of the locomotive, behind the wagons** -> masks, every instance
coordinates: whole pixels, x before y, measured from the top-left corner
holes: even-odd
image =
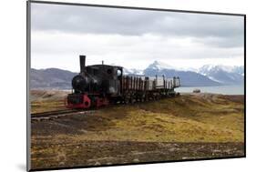
[[[195,68],[180,68],[154,61],[146,69],[124,69],[126,75],[168,77],[179,76],[182,86],[223,86],[242,85],[244,79],[243,66],[201,66]]]

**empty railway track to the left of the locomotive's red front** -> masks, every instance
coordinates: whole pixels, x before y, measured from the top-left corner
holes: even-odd
[[[74,110],[74,109],[65,109],[65,110],[55,110],[55,111],[48,111],[48,112],[41,112],[41,113],[33,113],[31,114],[31,119],[42,119],[42,118],[51,118],[51,117],[58,117],[58,116],[67,116],[72,115],[74,113],[85,112],[85,110]]]

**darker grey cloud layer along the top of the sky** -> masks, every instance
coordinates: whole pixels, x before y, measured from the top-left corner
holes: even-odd
[[[209,46],[243,46],[243,17],[230,15],[34,4],[32,30],[72,34],[189,36]]]

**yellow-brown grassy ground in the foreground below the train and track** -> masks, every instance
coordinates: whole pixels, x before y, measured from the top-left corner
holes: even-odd
[[[243,156],[243,108],[243,96],[190,94],[33,122],[32,164],[67,167]]]

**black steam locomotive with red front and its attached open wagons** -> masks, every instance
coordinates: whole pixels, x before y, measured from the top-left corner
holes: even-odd
[[[110,103],[135,103],[175,96],[179,77],[125,76],[122,66],[86,66],[80,57],[80,73],[72,79],[72,93],[67,96],[68,108],[107,106]]]

